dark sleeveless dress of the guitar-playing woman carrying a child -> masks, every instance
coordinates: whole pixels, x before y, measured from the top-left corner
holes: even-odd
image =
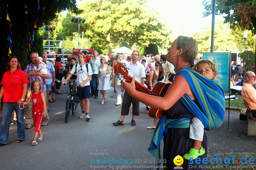
[[[197,106],[199,106],[197,100],[193,100]],[[166,111],[167,119],[178,119],[178,118],[192,118],[192,113],[182,104],[180,100],[178,100],[174,106],[172,106],[169,110]],[[190,148],[193,146],[194,140],[189,138],[189,128],[173,128],[169,129],[167,134],[164,135],[164,156],[163,158],[166,159],[166,166],[165,170],[174,169],[177,165],[174,164],[174,158],[177,155],[183,157],[185,153],[187,153]],[[186,169],[200,169],[198,165],[202,164],[202,158],[207,157],[207,138],[206,134],[204,133],[202,146],[205,149],[205,154],[199,156],[198,158],[201,159],[201,164],[190,164],[190,160],[184,159],[184,163],[180,165],[183,170]],[[193,168],[190,168],[191,165]]]

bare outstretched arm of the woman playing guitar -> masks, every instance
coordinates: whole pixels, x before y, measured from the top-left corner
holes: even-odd
[[[194,100],[194,95],[190,89],[190,86],[188,85],[186,79],[183,78],[181,75],[176,75],[174,81],[172,81],[172,85],[166,91],[164,97],[151,96],[135,90],[134,81],[135,77],[133,77],[131,83],[123,83],[121,81],[121,84],[130,96],[146,104],[147,106],[156,109],[166,111],[167,109],[171,108],[184,94],[187,94],[188,97],[191,98],[191,100]]]

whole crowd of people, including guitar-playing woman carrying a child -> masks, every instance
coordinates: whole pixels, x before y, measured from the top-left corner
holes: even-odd
[[[197,52],[196,40],[179,36],[172,42],[167,55],[143,56],[138,50],[133,50],[131,56],[123,54],[121,57],[112,53],[109,58],[103,54],[99,55],[96,50],[92,54],[84,51],[78,54],[77,63],[76,58],[68,57],[65,68],[60,57],[55,61],[47,61],[45,53],[38,55],[32,52],[32,63],[22,71],[18,58],[12,56],[1,81],[0,100],[4,96],[4,105],[0,145],[8,143],[10,117],[13,111],[17,115],[16,142],[26,140],[25,129],[31,129],[33,124],[35,135],[31,145],[37,145],[43,140],[41,126],[46,126],[49,122],[48,102],[55,102],[55,94],[63,94],[60,87],[67,81],[79,85],[76,89],[82,111],[79,118],[85,117],[86,121],[91,119],[89,98],[97,99],[100,91],[101,104],[105,104],[106,90],[112,86],[113,92],[117,94],[115,105],[122,105],[121,117],[113,125],[124,125],[124,117],[129,114],[131,104],[132,126],[136,125],[135,118],[139,116],[140,102],[146,104],[146,109],[152,107],[165,111],[160,120],[154,118],[153,124],[145,127],[155,129],[154,133],[159,132],[157,135],[154,134],[149,152],[160,159],[158,141],[164,136],[166,169],[175,167],[173,160],[177,155],[183,155],[185,160],[182,166],[186,169],[189,167],[189,158],[206,157],[207,139],[204,129],[218,128],[223,122],[225,112],[224,92],[215,80],[218,76],[215,65],[209,61],[200,61],[194,67],[193,61],[196,60]],[[119,62],[125,63],[128,68],[128,75],[132,77],[131,83],[119,80],[114,74],[114,66]],[[56,82],[55,79],[59,81]],[[135,80],[150,91],[154,90],[158,81],[171,85],[165,96],[159,97],[135,90]],[[209,91],[210,98],[205,95]],[[24,104],[27,105],[25,120],[22,108]],[[180,122],[183,124],[180,125]]]

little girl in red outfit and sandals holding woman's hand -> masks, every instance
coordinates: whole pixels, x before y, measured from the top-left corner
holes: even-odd
[[[32,99],[32,116],[34,120],[34,140],[31,145],[37,145],[37,141],[43,140],[43,135],[41,131],[42,118],[46,117],[46,101],[44,98],[44,94],[41,89],[41,84],[38,80],[34,80],[31,85],[30,97],[24,104],[28,104]],[[37,138],[39,133],[39,138]]]

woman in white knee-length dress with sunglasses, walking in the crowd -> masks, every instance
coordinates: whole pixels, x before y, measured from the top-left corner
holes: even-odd
[[[106,90],[110,89],[110,84],[108,77],[106,77],[106,74],[110,74],[110,68],[106,64],[106,59],[104,56],[101,57],[101,65],[99,66],[99,72],[98,72],[98,90],[100,90],[102,94],[102,101],[101,104],[104,104],[106,101]]]

